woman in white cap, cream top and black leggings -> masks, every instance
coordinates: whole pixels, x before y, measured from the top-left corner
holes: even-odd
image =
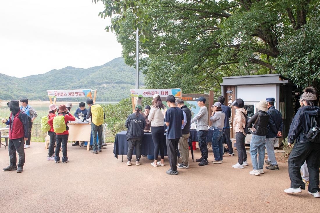
[[[160,95],[153,95],[151,110],[148,115],[148,120],[151,121],[151,136],[155,145],[154,162],[151,163],[153,167],[158,165],[164,166],[164,114],[161,110],[166,109],[161,101]],[[160,152],[160,161],[158,154]]]

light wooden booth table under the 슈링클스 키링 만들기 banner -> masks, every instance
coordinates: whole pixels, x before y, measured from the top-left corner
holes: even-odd
[[[87,151],[90,148],[91,125],[88,123],[69,123],[68,141],[88,141]],[[47,133],[44,148],[48,148],[50,137]]]

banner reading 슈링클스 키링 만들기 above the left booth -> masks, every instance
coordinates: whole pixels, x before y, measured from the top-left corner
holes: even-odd
[[[49,98],[92,98],[91,89],[47,90]]]

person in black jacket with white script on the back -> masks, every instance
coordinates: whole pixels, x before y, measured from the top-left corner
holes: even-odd
[[[128,162],[127,165],[131,166],[131,159],[133,149],[136,148],[136,165],[139,166],[141,164],[141,142],[144,136],[144,128],[146,127],[146,120],[141,115],[142,107],[140,105],[136,106],[136,111],[130,114],[125,121],[125,127],[128,128],[126,139],[128,141]]]

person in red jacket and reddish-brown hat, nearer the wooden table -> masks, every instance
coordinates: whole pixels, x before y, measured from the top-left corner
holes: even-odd
[[[60,147],[61,147],[61,143],[62,143],[62,163],[68,163],[68,157],[67,157],[67,143],[68,143],[68,137],[69,137],[69,131],[68,131],[68,121],[75,121],[76,118],[73,117],[71,115],[71,113],[67,112],[68,109],[66,107],[66,105],[60,105],[59,106],[59,115],[64,116],[64,121],[65,124],[67,126],[67,130],[64,131],[63,133],[56,133],[56,142],[57,142],[57,146],[56,146],[56,153],[54,156],[54,161],[55,163],[59,163],[60,162],[60,157],[59,157],[59,153],[60,153]],[[48,124],[51,126],[51,128],[53,128],[53,118],[51,118],[50,120],[48,120]]]

